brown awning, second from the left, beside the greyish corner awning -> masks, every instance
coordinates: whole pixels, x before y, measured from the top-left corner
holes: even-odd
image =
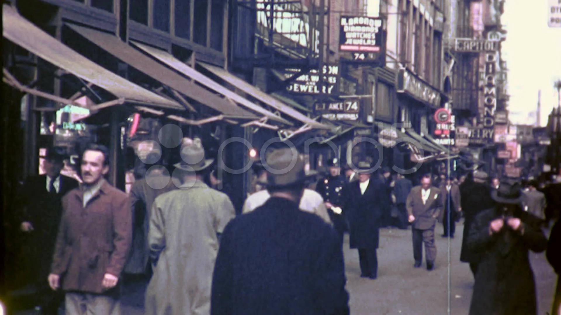
[[[218,112],[224,114],[225,118],[257,118],[256,115],[247,112],[247,110],[240,108],[236,104],[233,104],[216,94],[213,94],[213,92],[205,90],[204,87],[196,85],[195,82],[182,77],[154,59],[142,54],[139,50],[136,50],[121,41],[117,38],[117,36],[89,29],[87,27],[71,24],[66,25],[76,31],[76,33],[90,40],[95,45],[98,45],[108,53],[111,53],[115,57],[121,59],[121,61],[130,64],[140,72],[155,78],[155,80],[162,82],[162,84],[171,87],[173,90],[181,92],[188,98],[194,99],[201,104],[217,110]]]

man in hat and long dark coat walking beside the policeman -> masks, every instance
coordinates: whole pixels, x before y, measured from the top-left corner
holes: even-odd
[[[348,213],[350,245],[358,249],[361,277],[378,277],[378,257],[381,207],[387,204],[387,190],[379,179],[371,178],[371,164],[358,163],[358,180],[348,184],[345,210]]]

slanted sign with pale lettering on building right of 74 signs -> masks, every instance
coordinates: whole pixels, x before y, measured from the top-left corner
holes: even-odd
[[[397,92],[406,93],[433,107],[440,107],[440,93],[404,68],[399,69],[397,74]]]

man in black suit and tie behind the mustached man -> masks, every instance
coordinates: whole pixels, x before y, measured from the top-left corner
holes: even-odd
[[[42,314],[57,314],[64,296],[49,288],[47,276],[53,258],[54,242],[62,215],[62,197],[78,187],[75,179],[61,175],[67,156],[51,147],[44,160],[46,174],[27,178],[20,196],[21,230],[29,233],[31,261],[37,285],[36,304]]]

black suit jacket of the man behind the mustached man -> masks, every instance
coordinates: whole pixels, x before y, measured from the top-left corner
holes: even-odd
[[[33,225],[34,230],[30,234],[32,247],[36,258],[44,263],[50,263],[53,257],[62,216],[62,197],[77,187],[75,179],[64,175],[60,175],[58,193],[47,191],[47,175],[29,177],[22,186],[19,193],[20,219]]]

